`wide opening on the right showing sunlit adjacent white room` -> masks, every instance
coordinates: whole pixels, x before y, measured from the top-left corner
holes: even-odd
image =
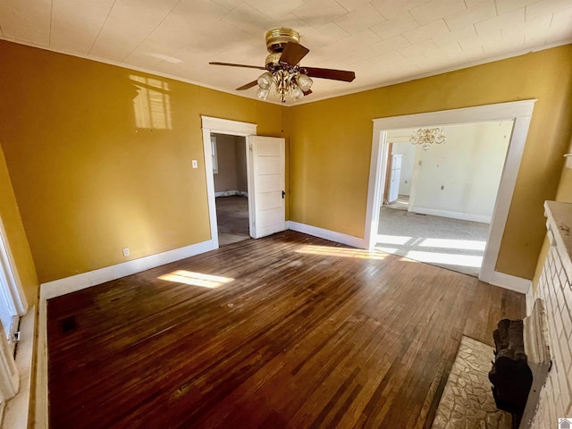
[[[478,276],[513,125],[388,131],[375,248]],[[439,139],[417,141],[428,130]]]

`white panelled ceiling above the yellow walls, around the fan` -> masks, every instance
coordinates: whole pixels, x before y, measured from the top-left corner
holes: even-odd
[[[261,71],[208,63],[264,66],[275,27],[302,65],[356,72],[310,101],[568,43],[572,0],[0,0],[0,38],[246,97]]]

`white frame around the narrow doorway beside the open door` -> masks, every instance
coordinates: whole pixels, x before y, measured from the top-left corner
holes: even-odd
[[[203,129],[203,152],[205,154],[205,174],[206,174],[206,193],[208,198],[208,215],[211,223],[211,240],[213,248],[218,248],[218,225],[216,224],[216,202],[214,199],[214,178],[213,178],[213,157],[211,151],[211,133],[227,134],[230,136],[242,136],[246,139],[247,151],[247,177],[248,187],[250,187],[250,161],[248,156],[248,147],[250,147],[250,136],[257,135],[257,124],[249,122],[231,121],[229,119],[214,118],[211,116],[201,115]],[[253,208],[248,198],[248,219],[250,231],[252,231]]]

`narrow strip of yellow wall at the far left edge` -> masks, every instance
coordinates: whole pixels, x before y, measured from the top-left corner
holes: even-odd
[[[38,303],[38,276],[29,251],[28,238],[21,224],[20,210],[16,204],[2,147],[0,147],[0,219],[4,224],[5,239],[12,251],[15,269],[20,277],[28,305],[35,306]]]

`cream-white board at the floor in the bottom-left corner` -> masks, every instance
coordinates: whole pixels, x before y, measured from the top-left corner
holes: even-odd
[[[16,349],[16,367],[20,374],[20,389],[4,408],[2,427],[5,429],[26,429],[29,425],[29,408],[33,407],[30,393],[32,382],[32,362],[36,343],[36,307],[29,307],[28,313],[20,319],[21,341]]]

